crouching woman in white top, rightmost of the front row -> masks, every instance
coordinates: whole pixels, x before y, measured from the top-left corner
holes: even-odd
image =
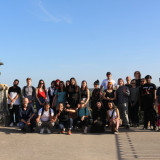
[[[109,126],[111,131],[115,134],[118,133],[119,123],[120,123],[120,115],[118,108],[115,109],[115,105],[113,102],[108,102],[109,110],[107,111],[107,118],[109,121]]]

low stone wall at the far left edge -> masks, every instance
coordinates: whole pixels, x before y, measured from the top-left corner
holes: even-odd
[[[8,86],[6,84],[0,84],[0,124],[6,125],[8,119]]]

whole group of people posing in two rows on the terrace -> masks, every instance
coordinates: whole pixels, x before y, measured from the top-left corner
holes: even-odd
[[[157,90],[151,83],[152,77],[147,75],[141,78],[141,73],[136,71],[134,79],[127,76],[125,83],[119,78],[117,84],[111,72],[107,72],[106,76],[101,86],[99,80],[94,82],[92,93],[85,80],[79,87],[75,78],[66,83],[59,79],[52,81],[48,89],[43,80],[39,80],[38,87],[34,88],[32,79],[27,78],[27,85],[22,91],[18,86],[19,80],[14,80],[8,90],[10,126],[14,125],[15,114],[17,126],[29,132],[36,128],[40,133],[45,130],[51,133],[54,126],[59,128],[59,133],[67,131],[68,135],[72,128],[83,129],[87,133],[88,126],[91,126],[91,132],[104,132],[108,124],[111,131],[117,134],[120,125],[126,129],[138,127],[141,110],[144,111],[143,129],[152,126],[155,130],[155,103],[157,101],[160,106],[160,89]],[[20,97],[23,98],[22,105]]]

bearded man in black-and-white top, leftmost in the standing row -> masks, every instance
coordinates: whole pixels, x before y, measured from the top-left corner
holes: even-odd
[[[8,90],[8,108],[10,113],[10,127],[14,125],[14,114],[16,125],[19,123],[19,105],[20,105],[20,95],[21,88],[18,86],[19,80],[15,79],[13,86]]]

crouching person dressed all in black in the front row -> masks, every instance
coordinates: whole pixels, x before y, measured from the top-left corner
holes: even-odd
[[[104,132],[104,127],[106,124],[106,110],[103,107],[102,102],[97,102],[96,108],[92,112],[92,118],[93,125],[91,127],[91,132]]]

